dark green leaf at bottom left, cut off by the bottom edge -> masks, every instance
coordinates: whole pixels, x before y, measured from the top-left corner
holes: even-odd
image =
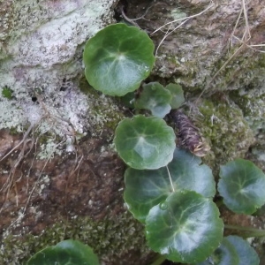
[[[56,246],[48,246],[34,254],[27,265],[99,265],[91,247],[77,240],[64,240]]]

